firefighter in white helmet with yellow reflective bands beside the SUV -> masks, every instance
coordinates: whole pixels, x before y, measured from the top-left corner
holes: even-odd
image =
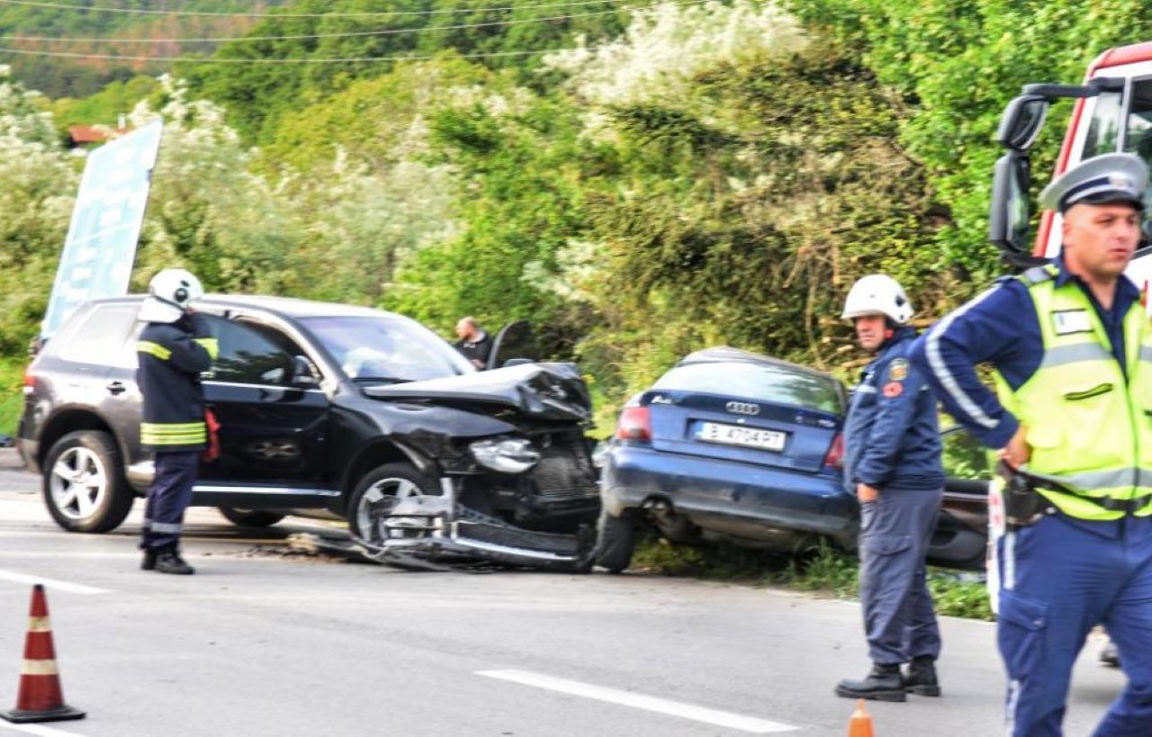
[[[141,445],[156,454],[141,568],[160,573],[195,572],[180,556],[180,531],[192,501],[199,455],[207,446],[200,372],[219,354],[203,317],[189,307],[202,296],[196,276],[166,268],[152,278],[137,316],[147,322],[136,343],[136,381],[144,398]]]

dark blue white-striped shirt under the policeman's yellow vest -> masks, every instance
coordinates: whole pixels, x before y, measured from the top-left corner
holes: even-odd
[[[1139,289],[1121,276],[1112,309],[1105,310],[1087,284],[1066,268],[1062,258],[1053,263],[1060,268],[1058,287],[1071,281],[1087,295],[1108,334],[1112,354],[1127,373],[1123,321],[1132,303],[1139,301]],[[912,366],[927,375],[948,413],[990,448],[1008,445],[1020,423],[980,383],[975,365],[991,363],[1015,390],[1036,373],[1043,356],[1036,305],[1028,287],[1013,278],[1001,279],[946,316],[916,341],[910,352]]]

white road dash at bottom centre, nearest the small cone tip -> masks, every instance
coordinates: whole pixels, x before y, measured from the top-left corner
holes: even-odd
[[[680,716],[696,722],[715,724],[717,727],[728,727],[730,729],[738,729],[741,731],[752,732],[756,735],[788,732],[799,729],[798,727],[793,727],[790,724],[770,722],[755,716],[744,716],[742,714],[733,714],[732,712],[720,712],[718,709],[692,706],[691,704],[682,704],[680,701],[669,701],[668,699],[659,699],[657,697],[632,693],[630,691],[606,689],[604,686],[596,686],[589,683],[579,683],[578,681],[554,678],[552,676],[544,676],[536,673],[529,673],[526,670],[477,670],[476,675],[486,676],[488,678],[499,678],[501,681],[511,681],[513,683],[536,686],[537,689],[546,689],[548,691],[559,691],[560,693],[582,696],[586,699],[596,699],[598,701],[630,706],[637,709],[669,714],[672,716]]]

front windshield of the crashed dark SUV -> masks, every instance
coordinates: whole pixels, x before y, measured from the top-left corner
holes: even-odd
[[[440,336],[401,317],[318,317],[301,322],[356,381],[422,381],[476,371]]]

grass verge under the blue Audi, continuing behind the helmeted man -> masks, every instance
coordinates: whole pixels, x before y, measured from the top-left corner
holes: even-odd
[[[649,539],[637,546],[632,567],[666,576],[776,586],[838,599],[855,599],[859,592],[856,556],[827,545],[797,559],[727,545],[690,547]],[[929,568],[929,587],[937,614],[992,621],[980,576]]]

